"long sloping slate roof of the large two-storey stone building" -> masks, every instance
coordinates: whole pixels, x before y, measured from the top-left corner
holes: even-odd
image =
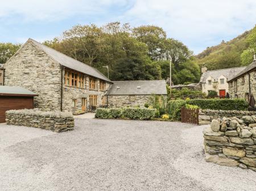
[[[48,54],[48,56],[52,57],[53,60],[60,63],[60,65],[68,67],[69,69],[80,71],[81,73],[88,74],[92,77],[96,77],[96,78],[111,82],[110,79],[105,77],[104,74],[100,73],[100,71],[98,71],[94,67],[86,65],[85,63],[82,63],[80,61],[77,61],[63,53],[58,52],[57,50],[54,50],[52,48],[49,48],[48,46],[40,44],[33,39],[28,39],[28,40],[31,40],[35,45],[39,46],[39,48],[41,48],[46,54]]]

